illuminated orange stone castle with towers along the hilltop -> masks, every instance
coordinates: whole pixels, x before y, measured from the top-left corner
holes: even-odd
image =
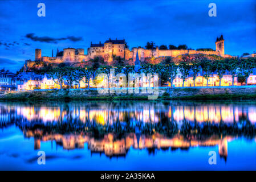
[[[113,61],[113,55],[120,56],[121,59],[129,60],[132,59],[133,62],[136,60],[136,54],[138,54],[140,61],[144,61],[146,57],[177,57],[178,55],[185,54],[197,54],[202,53],[206,55],[218,55],[222,57],[229,57],[225,55],[224,51],[224,39],[221,35],[220,38],[217,38],[216,42],[216,51],[196,51],[196,50],[180,50],[180,49],[144,49],[141,47],[132,48],[130,50],[125,40],[112,40],[109,39],[104,43],[92,43],[90,48],[87,49],[87,55],[84,54],[83,48],[66,48],[63,49],[63,52],[58,52],[56,56],[48,57],[42,56],[41,49],[35,49],[35,61],[45,61],[48,63],[78,63],[81,61],[88,61],[94,59],[95,57],[102,57],[105,62],[111,63]]]

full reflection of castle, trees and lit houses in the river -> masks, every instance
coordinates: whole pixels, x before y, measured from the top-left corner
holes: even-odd
[[[218,146],[227,158],[228,143],[255,139],[255,102],[49,102],[0,103],[0,127],[16,125],[34,149],[55,141],[64,150],[84,148],[106,156],[125,156],[132,147],[189,150]]]

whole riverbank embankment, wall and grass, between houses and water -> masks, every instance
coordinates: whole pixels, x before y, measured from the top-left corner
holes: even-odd
[[[156,94],[156,92],[155,92]],[[148,100],[153,93],[98,93],[97,89],[34,90],[1,93],[5,101],[42,100]],[[256,86],[159,88],[157,100],[250,100],[256,101]]]

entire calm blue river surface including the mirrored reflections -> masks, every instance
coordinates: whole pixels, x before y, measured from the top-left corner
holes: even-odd
[[[255,170],[255,125],[256,102],[0,102],[0,169]]]

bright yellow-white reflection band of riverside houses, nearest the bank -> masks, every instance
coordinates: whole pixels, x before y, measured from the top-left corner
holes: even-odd
[[[23,118],[26,121],[58,122],[78,119],[81,122],[95,121],[101,125],[112,124],[117,121],[139,121],[143,123],[157,123],[161,117],[173,119],[178,123],[186,121],[225,123],[238,122],[241,118],[256,123],[256,106],[225,105],[225,104],[169,104],[161,102],[136,103],[134,105],[111,105],[104,103],[89,104],[57,104],[54,106],[6,106],[0,105],[0,121],[10,121]]]

